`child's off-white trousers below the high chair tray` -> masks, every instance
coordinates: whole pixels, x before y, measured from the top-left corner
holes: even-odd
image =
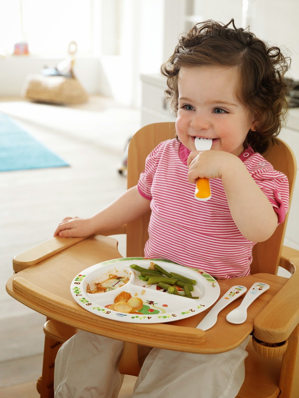
[[[136,380],[132,398],[235,398],[245,376],[247,338],[221,354],[190,354],[153,348]],[[55,398],[117,398],[123,342],[80,331],[57,353]]]

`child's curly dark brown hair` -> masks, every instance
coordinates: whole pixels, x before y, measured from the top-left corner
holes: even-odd
[[[232,28],[228,26],[232,24]],[[291,59],[278,47],[268,47],[254,33],[236,28],[234,19],[226,25],[208,20],[195,24],[179,38],[171,57],[162,64],[167,77],[166,99],[177,115],[177,79],[180,68],[226,66],[237,68],[240,85],[236,98],[258,120],[256,131],[248,131],[244,147],[264,153],[277,140],[285,125],[289,85],[283,78]]]

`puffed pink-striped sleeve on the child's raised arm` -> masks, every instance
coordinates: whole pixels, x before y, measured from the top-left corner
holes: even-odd
[[[268,197],[281,224],[289,210],[289,181],[283,173],[267,169],[255,170],[252,178]]]

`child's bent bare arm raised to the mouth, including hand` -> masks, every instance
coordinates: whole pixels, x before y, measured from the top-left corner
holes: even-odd
[[[269,199],[237,156],[224,151],[191,152],[188,180],[221,178],[232,218],[242,235],[252,242],[267,240],[277,227]],[[193,160],[194,159],[194,160]]]

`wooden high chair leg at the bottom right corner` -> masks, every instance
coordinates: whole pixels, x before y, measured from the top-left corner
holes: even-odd
[[[279,398],[299,397],[299,325],[287,339],[288,345],[282,357]]]

